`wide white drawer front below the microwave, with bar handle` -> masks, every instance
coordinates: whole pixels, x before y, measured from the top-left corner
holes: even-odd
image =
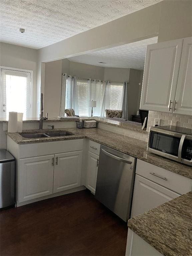
[[[192,180],[177,173],[170,172],[153,164],[137,159],[136,174],[154,181],[179,194],[185,194],[192,189]],[[159,177],[155,176],[158,175]]]

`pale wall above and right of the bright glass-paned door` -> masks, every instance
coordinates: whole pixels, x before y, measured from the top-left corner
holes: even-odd
[[[33,70],[33,117],[36,117],[38,50],[0,43],[0,66]]]

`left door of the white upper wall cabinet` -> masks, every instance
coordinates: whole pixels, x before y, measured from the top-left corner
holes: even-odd
[[[147,47],[141,109],[173,112],[182,44],[178,39]]]

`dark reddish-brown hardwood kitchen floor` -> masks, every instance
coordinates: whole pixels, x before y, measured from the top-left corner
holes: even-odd
[[[127,224],[80,191],[1,211],[0,255],[125,255]]]

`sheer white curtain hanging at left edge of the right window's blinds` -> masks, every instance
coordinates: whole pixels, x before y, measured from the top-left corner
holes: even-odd
[[[105,109],[110,108],[110,81],[103,82],[101,113],[100,117],[105,117]]]

